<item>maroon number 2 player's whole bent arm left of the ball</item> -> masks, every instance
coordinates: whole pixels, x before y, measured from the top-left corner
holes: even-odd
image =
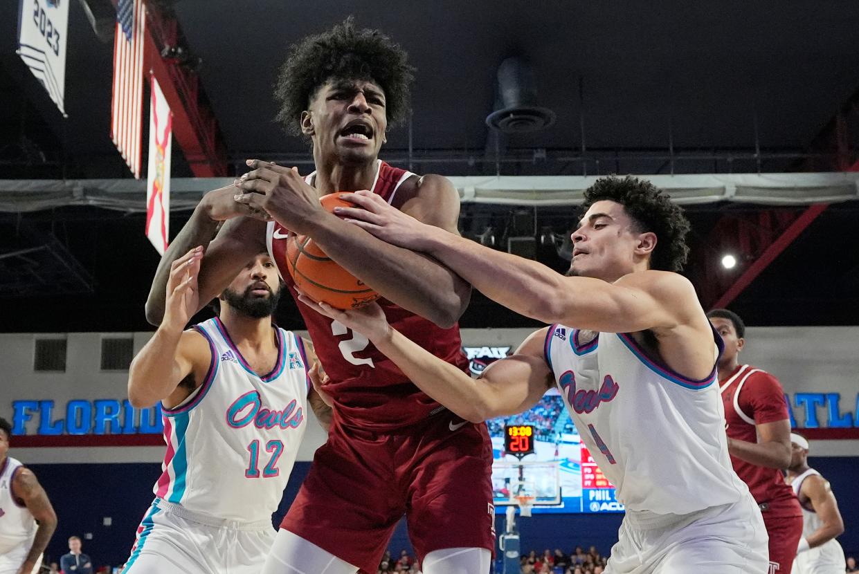
[[[208,192],[164,251],[146,299],[146,320],[150,324],[155,327],[161,324],[164,289],[171,266],[187,251],[200,247],[198,257],[204,259],[199,277],[200,308],[233,281],[244,265],[242,262],[265,251],[265,221],[270,218],[259,209],[236,202],[235,194],[240,191],[235,185],[228,185]],[[199,308],[194,313],[197,311]]]

